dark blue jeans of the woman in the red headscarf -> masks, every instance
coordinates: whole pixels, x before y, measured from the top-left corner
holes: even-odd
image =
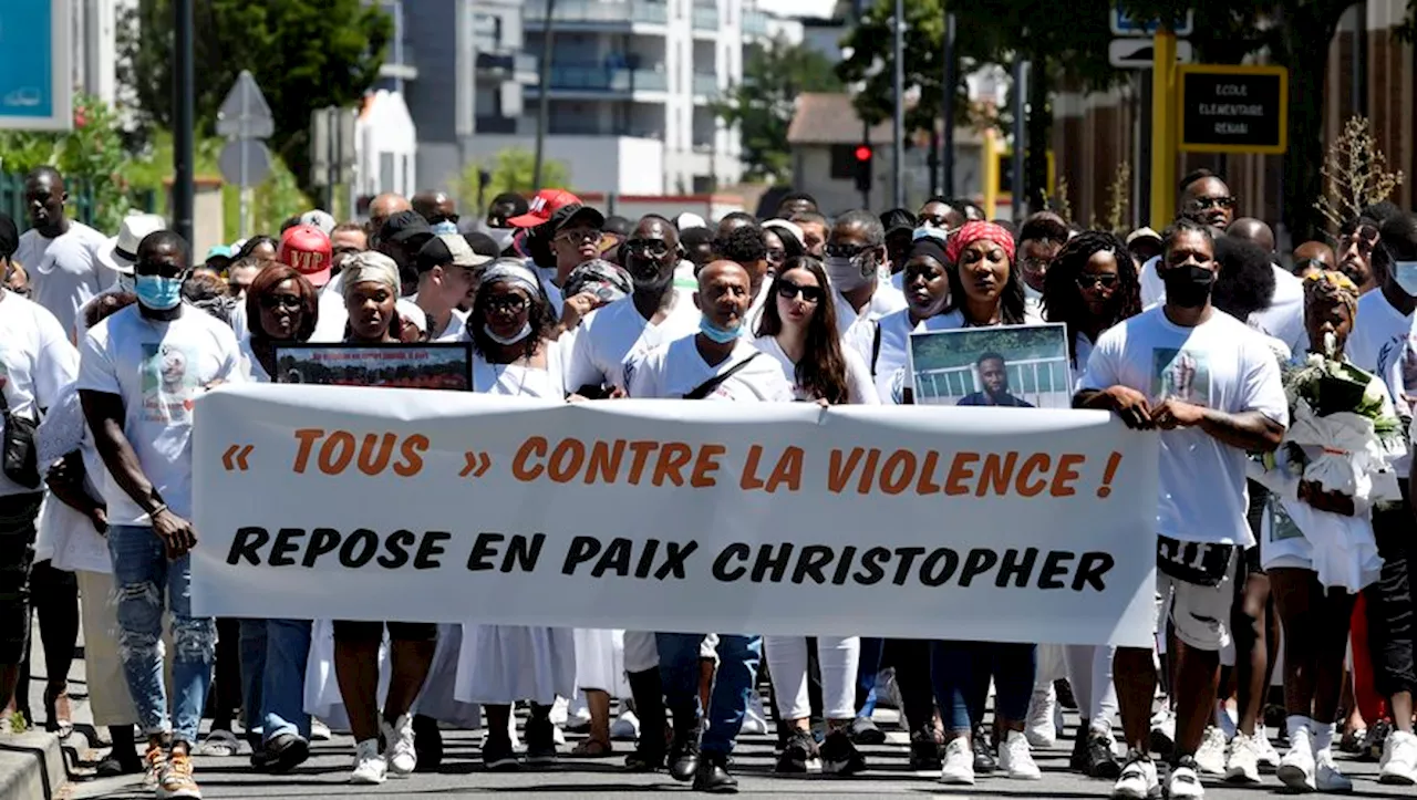
[[[934,661],[935,699],[947,731],[972,731],[983,721],[978,687],[993,674],[993,705],[1000,719],[1023,722],[1029,716],[1033,677],[1037,671],[1036,644],[998,641],[937,641]],[[988,684],[985,684],[988,692]]]

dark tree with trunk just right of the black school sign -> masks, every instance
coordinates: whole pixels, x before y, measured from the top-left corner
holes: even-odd
[[[1179,20],[1190,0],[1119,0],[1144,18]],[[1196,51],[1202,61],[1236,64],[1268,50],[1271,64],[1289,69],[1288,144],[1284,156],[1284,221],[1294,241],[1316,238],[1323,215],[1323,72],[1329,42],[1355,0],[1238,0],[1196,3]],[[1407,3],[1404,31],[1413,30],[1417,3]],[[1315,55],[1318,54],[1318,55]]]

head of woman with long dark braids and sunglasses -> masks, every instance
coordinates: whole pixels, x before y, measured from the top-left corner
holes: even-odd
[[[1043,278],[1043,317],[1067,326],[1074,375],[1087,368],[1104,330],[1141,310],[1136,262],[1127,242],[1108,231],[1083,231],[1068,239]]]

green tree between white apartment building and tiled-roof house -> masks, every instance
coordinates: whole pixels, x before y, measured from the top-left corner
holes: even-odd
[[[754,48],[743,65],[743,82],[730,86],[713,110],[743,136],[744,178],[786,183],[792,177],[788,126],[802,92],[839,92],[832,61],[782,37]]]

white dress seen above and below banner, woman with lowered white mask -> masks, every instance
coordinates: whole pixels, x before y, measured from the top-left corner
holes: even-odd
[[[473,385],[490,394],[564,399],[561,347],[548,344],[546,370],[487,364],[473,357]],[[462,626],[453,695],[461,702],[510,705],[529,699],[551,705],[575,694],[575,636],[565,627],[519,624]]]

